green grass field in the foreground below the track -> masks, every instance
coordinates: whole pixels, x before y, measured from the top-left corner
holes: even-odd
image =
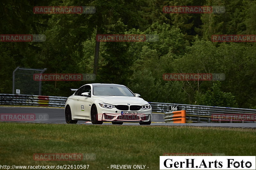
[[[255,156],[256,130],[173,126],[0,122],[1,165],[146,165],[159,169],[164,153]],[[94,161],[35,161],[35,153],[93,153]]]

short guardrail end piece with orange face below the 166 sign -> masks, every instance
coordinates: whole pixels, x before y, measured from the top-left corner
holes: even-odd
[[[186,111],[174,111],[164,114],[164,122],[166,123],[186,123]]]

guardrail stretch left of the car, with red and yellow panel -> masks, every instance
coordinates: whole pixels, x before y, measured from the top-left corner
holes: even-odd
[[[67,97],[36,96],[24,94],[0,94],[1,105],[27,105],[64,107]]]

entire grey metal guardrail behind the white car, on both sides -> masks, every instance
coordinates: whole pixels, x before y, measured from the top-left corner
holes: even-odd
[[[64,107],[66,100],[67,97],[0,94],[0,105]],[[169,106],[179,106],[180,110],[186,110],[187,122],[256,122],[256,110],[254,109],[183,105],[174,103],[149,103],[152,107],[152,112],[156,113],[166,113],[169,112]],[[238,119],[236,119],[236,117],[238,117]]]

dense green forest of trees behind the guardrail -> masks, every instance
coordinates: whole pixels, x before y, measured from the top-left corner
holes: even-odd
[[[225,13],[163,12],[174,5],[225,6]],[[35,6],[93,6],[96,12],[35,14]],[[115,83],[148,102],[256,109],[255,42],[211,40],[216,34],[256,34],[253,0],[1,0],[0,13],[0,34],[46,36],[44,42],[0,42],[0,93],[12,93],[18,66],[47,68],[44,73],[96,69],[95,81],[43,81],[42,95],[69,96],[69,88]],[[158,40],[98,42],[97,34],[157,35]],[[224,73],[225,80],[165,81],[164,73]]]

